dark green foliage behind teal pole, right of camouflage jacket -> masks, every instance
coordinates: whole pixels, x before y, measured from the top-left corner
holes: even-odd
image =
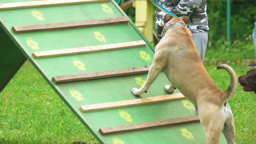
[[[230,33],[231,43],[251,39],[256,21],[256,1],[231,1]],[[215,45],[226,41],[227,35],[227,1],[208,1],[209,43]]]

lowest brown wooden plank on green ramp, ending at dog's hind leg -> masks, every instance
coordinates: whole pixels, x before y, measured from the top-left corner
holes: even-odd
[[[107,134],[113,134],[113,133],[138,131],[138,130],[144,130],[144,129],[152,129],[152,128],[158,128],[163,126],[171,126],[171,125],[195,123],[195,122],[199,122],[198,115],[164,119],[164,120],[151,121],[151,122],[145,122],[145,123],[105,127],[105,128],[101,128],[99,132],[102,135],[107,135]]]

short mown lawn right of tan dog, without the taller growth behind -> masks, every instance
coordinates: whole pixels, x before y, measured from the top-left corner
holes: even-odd
[[[237,73],[237,76],[246,73],[246,65],[237,65],[235,62],[229,64]],[[225,70],[215,70],[215,65],[206,65],[213,81],[225,91],[230,84],[230,77]],[[256,94],[254,92],[244,92],[242,86],[238,84],[235,94],[229,99],[229,105],[233,111],[235,119],[236,143],[256,143]]]

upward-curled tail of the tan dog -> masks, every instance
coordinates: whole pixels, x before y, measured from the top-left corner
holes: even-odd
[[[228,101],[229,97],[235,93],[238,79],[237,79],[234,69],[226,64],[221,64],[221,65],[217,66],[216,69],[225,69],[228,71],[228,74],[230,75],[230,85],[229,85],[228,89],[222,95],[222,101],[223,101],[223,103],[226,103]]]

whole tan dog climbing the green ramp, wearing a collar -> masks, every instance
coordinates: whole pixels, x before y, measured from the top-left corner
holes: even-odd
[[[165,86],[165,90],[173,93],[177,87],[193,102],[198,109],[208,143],[219,143],[221,131],[227,143],[235,143],[234,119],[227,101],[237,87],[236,73],[228,65],[219,65],[217,69],[227,70],[231,82],[225,92],[218,89],[199,58],[192,34],[187,28],[188,21],[188,17],[184,16],[180,18],[165,16],[164,22],[167,22],[163,29],[165,35],[156,45],[154,60],[146,82],[140,89],[133,88],[131,92],[133,95],[147,92],[160,71],[164,70],[171,82],[171,85]]]

